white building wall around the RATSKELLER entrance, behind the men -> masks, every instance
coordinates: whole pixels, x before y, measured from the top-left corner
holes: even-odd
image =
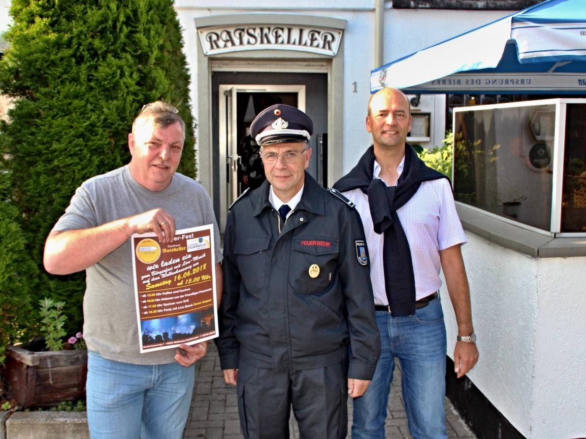
[[[250,124],[251,97],[254,114],[278,103],[271,95],[307,112],[315,124],[309,172],[331,186],[370,145],[364,118],[380,46],[381,60],[396,59],[510,13],[392,9],[380,2],[384,43],[377,49],[373,0],[287,3],[176,1],[198,123],[198,178],[220,223],[242,188],[238,145]],[[413,110],[428,114],[428,126],[411,142],[441,146],[445,95],[422,95]]]

